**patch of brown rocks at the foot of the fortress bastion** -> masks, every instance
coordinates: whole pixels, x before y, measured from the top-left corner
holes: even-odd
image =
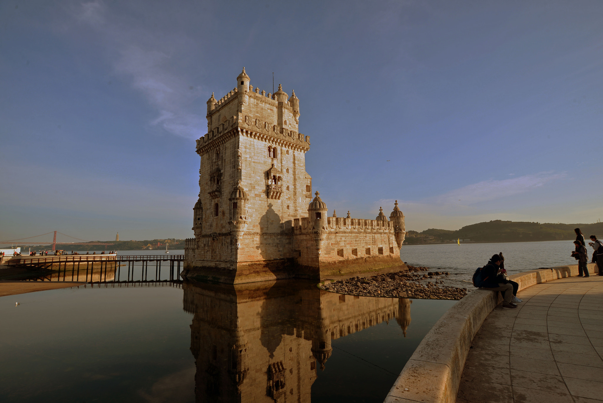
[[[408,271],[379,274],[372,277],[352,277],[320,286],[338,294],[363,297],[424,298],[432,300],[459,300],[467,295],[467,288],[441,286],[449,272],[430,271],[428,267],[408,266]],[[430,281],[430,279],[434,281]],[[425,285],[421,280],[427,280]]]

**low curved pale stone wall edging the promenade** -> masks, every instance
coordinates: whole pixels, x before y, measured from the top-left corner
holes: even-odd
[[[589,272],[595,270],[595,263],[589,263]],[[577,275],[578,265],[570,265],[524,271],[510,279],[522,290]],[[473,337],[500,301],[500,292],[476,289],[450,308],[418,345],[385,402],[455,402]]]

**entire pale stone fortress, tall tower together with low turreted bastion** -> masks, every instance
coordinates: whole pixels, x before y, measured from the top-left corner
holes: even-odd
[[[299,117],[295,92],[253,89],[245,69],[236,88],[209,98],[186,277],[247,283],[406,269],[397,201],[390,220],[382,209],[367,220],[327,217],[319,193],[312,199]]]

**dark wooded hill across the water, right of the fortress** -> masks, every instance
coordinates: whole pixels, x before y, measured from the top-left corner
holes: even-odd
[[[574,228],[580,228],[584,237],[590,235],[603,238],[603,222],[595,224],[552,224],[540,222],[502,221],[494,220],[466,225],[460,230],[428,230],[417,232],[408,231],[405,244],[445,243],[456,239],[471,242],[526,242],[535,240],[576,239]]]

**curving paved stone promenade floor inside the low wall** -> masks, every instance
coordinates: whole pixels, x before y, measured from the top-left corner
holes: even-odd
[[[456,402],[603,402],[603,277],[517,296],[517,309],[494,309],[473,339]]]

